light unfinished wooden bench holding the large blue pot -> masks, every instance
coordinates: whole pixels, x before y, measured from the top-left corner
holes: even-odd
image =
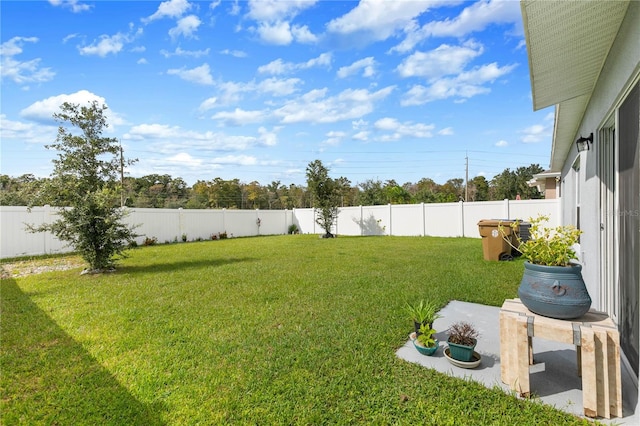
[[[622,417],[620,335],[607,314],[591,310],[574,320],[560,320],[532,313],[520,299],[505,300],[500,309],[500,374],[523,397],[531,394],[534,336],[576,346],[585,416]]]

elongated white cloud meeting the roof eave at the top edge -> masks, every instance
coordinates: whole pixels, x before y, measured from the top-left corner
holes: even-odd
[[[482,31],[492,24],[514,24],[520,27],[521,23],[519,2],[480,0],[466,7],[454,19],[431,21],[422,27],[417,25],[405,27],[406,38],[392,51],[408,52],[429,37],[461,38],[473,32]]]

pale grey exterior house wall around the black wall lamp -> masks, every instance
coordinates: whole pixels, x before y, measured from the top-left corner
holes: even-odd
[[[598,130],[605,121],[610,120],[615,109],[640,72],[640,2],[629,4],[627,15],[607,57],[600,78],[585,111],[583,120],[574,135],[575,141],[580,135],[593,132],[598,143]],[[593,147],[592,147],[593,148]],[[573,165],[580,157],[581,171],[576,175]],[[562,217],[564,223],[580,222],[584,234],[580,241],[580,256],[583,263],[583,277],[593,307],[604,309],[600,295],[600,179],[598,178],[598,158],[596,151],[590,149],[578,153],[574,148],[569,152],[562,170]],[[576,195],[576,182],[579,179],[580,200]],[[580,202],[580,216],[576,216],[576,203]]]

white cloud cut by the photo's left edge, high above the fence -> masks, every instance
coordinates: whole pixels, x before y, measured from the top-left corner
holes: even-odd
[[[0,45],[0,70],[2,79],[8,78],[18,84],[42,83],[56,75],[51,68],[40,66],[40,59],[18,61],[14,59],[22,53],[24,43],[37,43],[36,37],[14,37]]]

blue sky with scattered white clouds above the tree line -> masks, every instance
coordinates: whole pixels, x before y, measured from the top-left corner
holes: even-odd
[[[49,176],[63,102],[127,172],[438,183],[549,163],[517,1],[2,1],[1,173]]]

